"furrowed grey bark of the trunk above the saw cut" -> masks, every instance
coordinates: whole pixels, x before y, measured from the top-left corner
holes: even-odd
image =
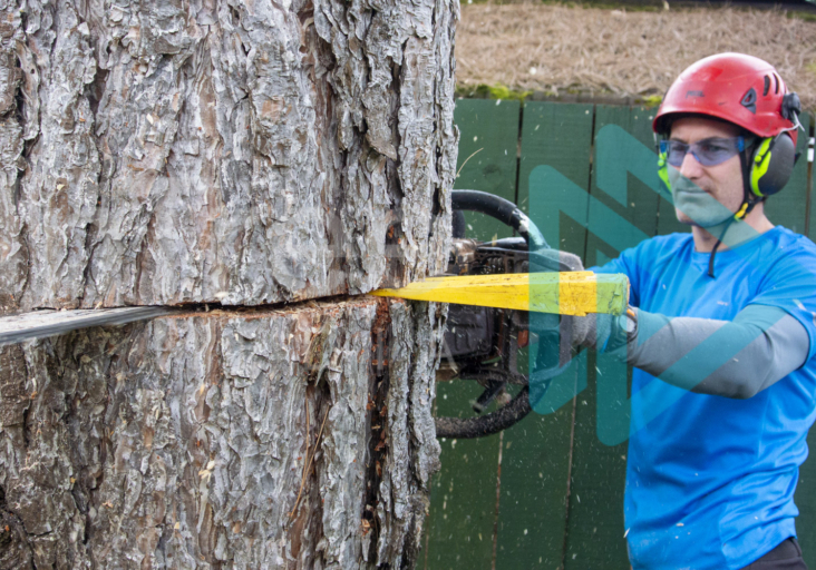
[[[0,0],[4,311],[259,305],[446,263],[454,0]]]

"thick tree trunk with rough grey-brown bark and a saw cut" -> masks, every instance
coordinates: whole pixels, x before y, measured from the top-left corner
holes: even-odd
[[[0,569],[411,567],[458,2],[0,10]]]

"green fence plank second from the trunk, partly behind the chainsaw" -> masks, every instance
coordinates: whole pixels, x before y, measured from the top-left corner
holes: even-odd
[[[585,244],[585,218],[573,220],[556,212],[562,209],[557,190],[534,184],[531,174],[538,166],[555,166],[585,189],[591,136],[591,105],[528,102],[524,107],[518,205],[552,246],[579,253]],[[581,214],[573,213],[579,218]],[[574,390],[577,366],[557,381]],[[558,568],[562,563],[573,420],[572,397],[565,401],[555,413],[532,413],[505,432],[497,569]]]

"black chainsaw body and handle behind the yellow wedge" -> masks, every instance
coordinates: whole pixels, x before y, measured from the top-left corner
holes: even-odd
[[[535,224],[513,203],[483,191],[453,190],[451,204],[454,239],[446,275],[582,269],[573,256],[551,248]],[[518,237],[468,239],[464,237],[465,210],[498,219]],[[483,391],[472,402],[478,415],[436,417],[437,436],[482,438],[526,416],[532,410],[531,390],[536,399],[543,396],[552,379],[572,362],[573,348],[562,342],[570,338],[571,324],[570,318],[558,314],[449,305],[437,382],[472,381]],[[527,348],[531,356],[522,348]],[[486,413],[490,405],[496,410]]]

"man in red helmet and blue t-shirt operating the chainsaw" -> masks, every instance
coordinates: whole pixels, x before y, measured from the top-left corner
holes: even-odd
[[[635,570],[806,568],[793,497],[816,417],[816,246],[764,210],[790,176],[798,110],[757,58],[683,71],[653,128],[691,234],[595,269],[631,283],[629,316],[599,317],[584,344],[635,366],[624,500]]]

